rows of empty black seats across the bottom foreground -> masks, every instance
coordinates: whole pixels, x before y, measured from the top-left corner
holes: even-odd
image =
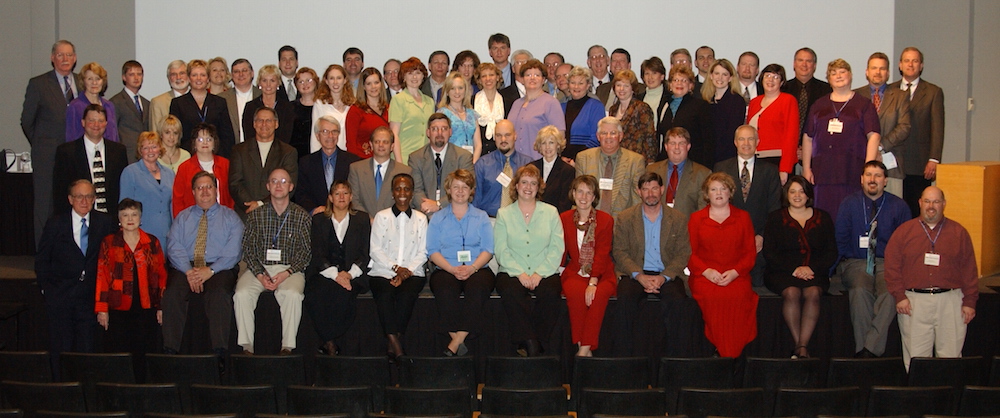
[[[652,415],[687,413],[692,416],[709,413],[732,416],[736,411],[753,411],[752,416],[771,413],[811,416],[827,412],[860,415],[869,407],[876,408],[872,411],[889,411],[878,409],[878,405],[883,404],[919,407],[908,411],[921,414],[948,414],[980,407],[975,409],[978,413],[994,411],[990,413],[1000,415],[1000,401],[996,400],[1000,399],[1000,393],[996,392],[1000,390],[996,388],[1000,386],[998,358],[991,362],[981,357],[914,359],[909,374],[903,370],[899,358],[831,359],[828,362],[820,359],[763,358],[740,361],[728,358],[664,358],[659,361],[644,357],[583,358],[576,359],[572,384],[568,387],[562,384],[560,362],[555,357],[490,357],[481,380],[476,379],[475,361],[471,357],[404,357],[398,362],[398,369],[390,370],[383,357],[319,356],[312,365],[311,371],[315,372],[315,378],[310,379],[312,381],[306,381],[307,373],[301,356],[235,355],[231,357],[231,362],[229,372],[223,379],[217,373],[216,360],[211,355],[149,355],[145,365],[147,373],[142,381],[166,383],[167,386],[147,387],[130,386],[137,380],[128,354],[64,353],[61,380],[80,383],[51,387],[45,384],[19,386],[5,383],[4,397],[7,406],[21,407],[26,411],[53,409],[57,404],[45,401],[42,405],[30,406],[23,401],[16,404],[16,399],[84,400],[79,404],[59,406],[65,410],[79,410],[80,404],[95,411],[119,410],[121,407],[116,405],[123,405],[129,411],[238,411],[244,416],[268,413],[272,409],[277,413],[295,415],[339,411],[352,412],[353,416],[364,416],[372,411],[467,414],[474,410],[505,415],[552,415],[573,410],[582,417],[624,411]],[[48,355],[44,352],[0,353],[0,380],[51,381],[48,364]],[[983,371],[990,368],[993,372],[987,376]],[[656,369],[658,371],[650,372]],[[484,387],[477,391],[479,381]],[[231,386],[219,386],[223,383]],[[310,384],[315,387],[303,386]],[[993,388],[978,387],[983,384]],[[873,389],[873,386],[891,388]],[[65,390],[69,394],[80,392],[81,395],[39,396],[36,392],[20,396],[15,393],[17,390]],[[130,390],[149,390],[151,394],[139,396],[128,392]],[[129,393],[134,396],[129,396]],[[481,405],[477,394],[481,394]],[[945,394],[946,399],[941,397]],[[983,394],[994,400],[976,402],[975,397]],[[244,395],[254,401],[240,400]],[[146,400],[159,396],[167,399],[167,404],[178,404],[180,409],[174,411],[167,407],[152,408],[145,404],[114,401],[114,396],[124,400]],[[911,396],[915,397],[915,401],[880,401],[891,399],[887,398],[890,396]],[[170,399],[176,402],[170,402]],[[696,406],[701,405],[699,400],[707,401],[706,407]],[[753,408],[740,406],[747,405],[738,402],[740,400],[748,402]],[[916,402],[925,400],[932,400],[934,409],[925,410],[923,404]],[[269,407],[272,402],[273,408]],[[341,406],[331,409],[327,402]],[[345,409],[344,405],[354,406]],[[453,409],[456,405],[461,405],[461,409]],[[785,409],[788,405],[799,405],[804,409],[795,409],[799,413],[790,414]],[[833,406],[836,409],[830,409]],[[242,409],[227,409],[235,407]],[[714,409],[705,409],[707,407]]]

